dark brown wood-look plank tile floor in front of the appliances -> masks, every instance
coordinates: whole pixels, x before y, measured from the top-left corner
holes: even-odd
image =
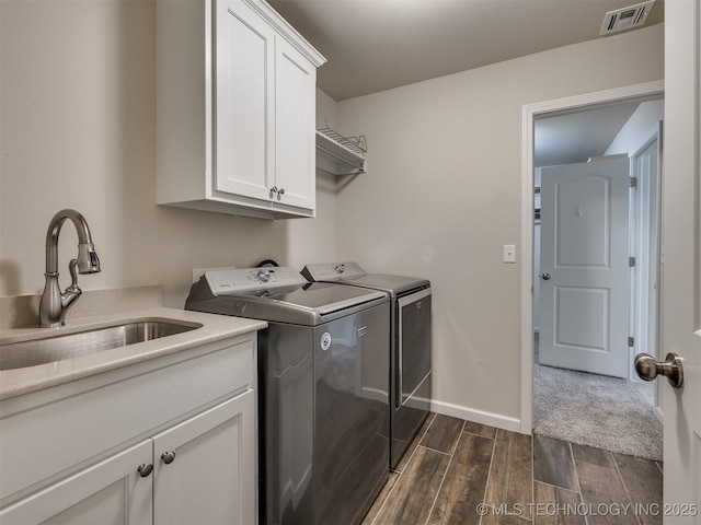
[[[430,415],[363,525],[662,524],[662,465]]]

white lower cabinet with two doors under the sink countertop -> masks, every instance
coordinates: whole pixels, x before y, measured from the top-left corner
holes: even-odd
[[[0,523],[256,523],[255,336],[181,353],[1,401]]]

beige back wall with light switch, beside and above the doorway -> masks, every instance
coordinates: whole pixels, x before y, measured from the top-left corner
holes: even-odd
[[[338,190],[338,255],[432,280],[437,410],[519,428],[521,247],[502,256],[522,228],[522,106],[660,80],[663,38],[656,25],[338,104],[369,165]]]

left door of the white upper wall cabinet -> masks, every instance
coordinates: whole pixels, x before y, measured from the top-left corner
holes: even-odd
[[[240,0],[216,2],[215,189],[269,200],[275,186],[275,32]]]

